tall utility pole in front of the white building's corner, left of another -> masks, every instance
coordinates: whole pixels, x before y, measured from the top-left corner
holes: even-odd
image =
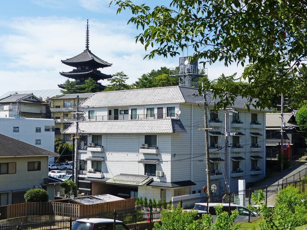
[[[204,96],[204,130],[205,130],[205,150],[206,150],[206,172],[207,172],[207,193],[208,201],[211,202],[211,180],[210,180],[210,156],[209,156],[209,140],[208,140],[208,120],[207,120],[207,101],[204,83],[201,82]]]

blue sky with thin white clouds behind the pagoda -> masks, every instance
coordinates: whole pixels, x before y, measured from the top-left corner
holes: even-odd
[[[0,95],[12,90],[56,89],[66,78],[60,71],[71,71],[61,59],[81,53],[85,48],[85,24],[90,24],[90,50],[101,59],[113,63],[101,69],[106,74],[124,71],[135,82],[143,73],[161,66],[174,67],[179,57],[143,60],[142,44],[135,44],[140,33],[127,25],[129,11],[116,15],[110,0],[11,0],[2,1],[0,14]],[[170,1],[149,2],[151,6]],[[210,79],[222,73],[242,73],[242,67],[229,68],[223,63],[208,67]],[[102,81],[107,84],[107,81]]]

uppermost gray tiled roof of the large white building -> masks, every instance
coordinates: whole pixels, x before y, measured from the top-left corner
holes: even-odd
[[[210,99],[211,98],[211,99]],[[213,94],[208,92],[208,104],[214,105]],[[255,100],[254,100],[255,101]],[[245,108],[247,98],[237,96],[235,108]],[[84,101],[83,107],[108,107],[108,106],[129,106],[129,105],[160,105],[175,103],[202,104],[203,98],[198,96],[198,89],[184,86],[169,86],[136,90],[106,91],[97,92]],[[253,109],[251,107],[251,109]]]

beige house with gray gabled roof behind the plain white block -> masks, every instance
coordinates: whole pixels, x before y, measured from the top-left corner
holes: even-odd
[[[0,99],[1,117],[50,118],[49,104],[31,94],[11,94]]]

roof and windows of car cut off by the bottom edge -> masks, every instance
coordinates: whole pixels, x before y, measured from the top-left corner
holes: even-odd
[[[122,221],[115,220],[116,230],[129,230]],[[114,220],[105,218],[87,218],[76,220],[72,230],[113,230]]]

